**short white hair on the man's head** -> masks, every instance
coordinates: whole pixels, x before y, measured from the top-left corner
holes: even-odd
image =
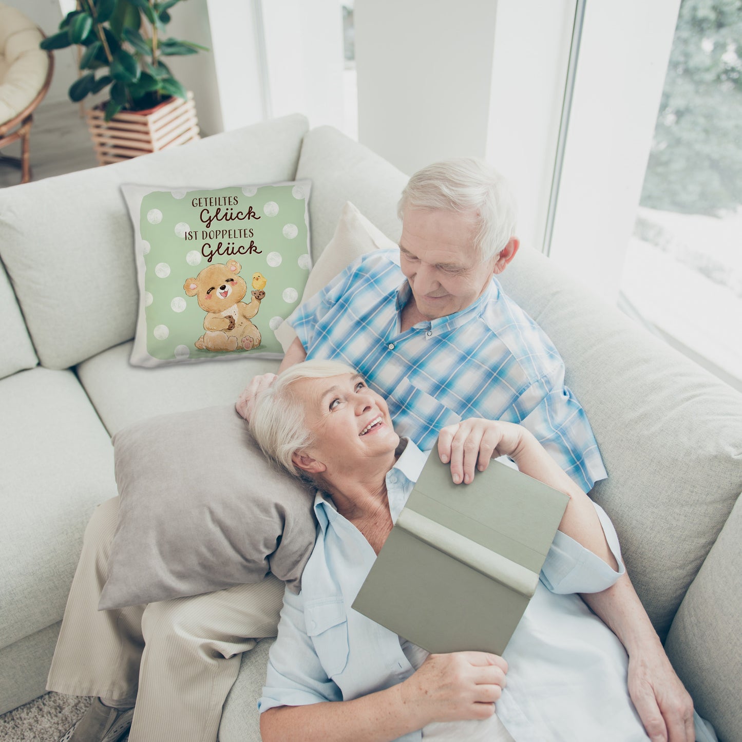
[[[473,157],[434,162],[418,170],[402,191],[400,219],[407,209],[473,211],[474,248],[482,260],[499,255],[515,234],[516,203],[508,181]]]

